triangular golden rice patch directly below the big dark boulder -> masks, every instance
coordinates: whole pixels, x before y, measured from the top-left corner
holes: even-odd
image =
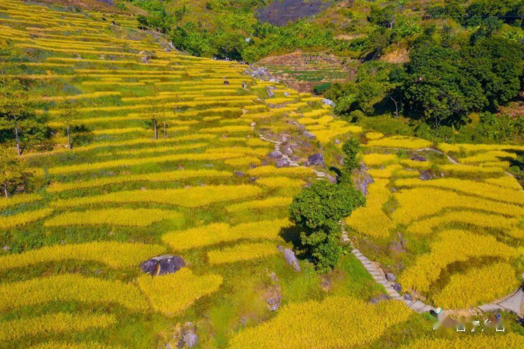
[[[190,269],[182,268],[174,274],[154,278],[141,276],[137,283],[149,298],[152,308],[171,317],[189,308],[199,298],[219,289],[222,276],[194,275]]]

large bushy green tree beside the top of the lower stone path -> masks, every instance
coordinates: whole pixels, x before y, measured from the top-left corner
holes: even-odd
[[[300,241],[316,269],[327,272],[342,253],[339,221],[364,205],[365,198],[353,186],[315,181],[290,205],[291,219],[301,228]]]

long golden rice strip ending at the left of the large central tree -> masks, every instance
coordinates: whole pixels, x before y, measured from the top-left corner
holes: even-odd
[[[162,236],[162,241],[173,249],[183,250],[239,239],[274,240],[279,238],[279,233],[283,228],[290,225],[288,219],[242,223],[235,226],[226,223],[213,223],[167,233]]]

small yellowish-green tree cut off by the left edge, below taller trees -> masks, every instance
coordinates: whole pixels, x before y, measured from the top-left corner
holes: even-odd
[[[0,183],[6,199],[9,193],[27,180],[25,163],[16,156],[12,148],[0,147]]]

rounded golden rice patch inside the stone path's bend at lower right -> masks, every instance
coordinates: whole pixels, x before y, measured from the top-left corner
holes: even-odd
[[[472,268],[465,274],[453,274],[444,288],[431,296],[434,304],[448,309],[462,309],[489,302],[515,291],[520,281],[507,263]]]

